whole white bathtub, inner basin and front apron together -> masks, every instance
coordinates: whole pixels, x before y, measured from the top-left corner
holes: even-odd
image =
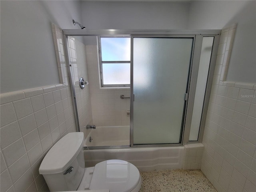
[[[89,142],[89,138],[92,138]],[[172,147],[129,147],[129,126],[103,126],[90,130],[84,141],[85,166],[95,166],[109,159],[126,160],[140,171],[182,169],[185,156],[184,146]],[[92,149],[90,146],[127,146],[124,148]]]

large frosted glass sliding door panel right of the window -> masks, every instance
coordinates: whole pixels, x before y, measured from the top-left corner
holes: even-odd
[[[134,144],[180,143],[193,38],[134,38]]]

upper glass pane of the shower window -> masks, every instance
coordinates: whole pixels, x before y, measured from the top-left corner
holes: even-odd
[[[130,38],[101,38],[102,61],[130,61]]]

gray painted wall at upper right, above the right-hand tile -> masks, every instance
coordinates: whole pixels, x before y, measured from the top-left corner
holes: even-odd
[[[192,1],[189,29],[222,29],[237,23],[226,80],[256,82],[256,1]]]

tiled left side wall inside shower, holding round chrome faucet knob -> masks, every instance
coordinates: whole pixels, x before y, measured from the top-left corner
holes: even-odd
[[[86,125],[93,124],[90,97],[90,83],[84,89],[79,86],[80,77],[90,82],[88,78],[88,65],[86,59],[86,46],[74,37],[68,37],[70,60],[72,64],[72,78],[76,93],[76,105],[80,131],[86,134]]]

